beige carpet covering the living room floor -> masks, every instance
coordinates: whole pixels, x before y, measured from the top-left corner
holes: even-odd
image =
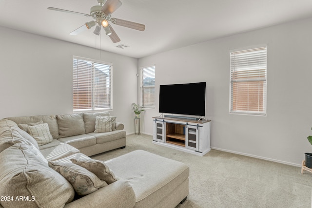
[[[145,150],[190,167],[189,196],[176,208],[311,208],[312,174],[298,167],[211,150],[205,156],[152,144],[152,136],[129,135],[125,149],[92,156],[108,160]]]

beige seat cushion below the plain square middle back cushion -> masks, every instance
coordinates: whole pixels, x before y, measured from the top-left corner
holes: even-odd
[[[77,149],[90,147],[97,144],[97,139],[88,134],[80,134],[76,136],[69,136],[59,139],[60,142],[69,144]]]

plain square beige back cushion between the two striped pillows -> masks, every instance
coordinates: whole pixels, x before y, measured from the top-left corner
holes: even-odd
[[[57,115],[59,138],[85,134],[82,113]]]

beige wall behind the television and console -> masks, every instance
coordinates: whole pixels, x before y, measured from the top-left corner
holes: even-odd
[[[143,114],[153,133],[159,85],[206,81],[211,147],[300,166],[312,152],[312,19],[241,33],[140,58],[156,64],[156,109]],[[268,44],[267,116],[229,113],[230,50]]]

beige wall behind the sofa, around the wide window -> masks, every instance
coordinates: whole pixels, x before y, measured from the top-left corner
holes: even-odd
[[[137,59],[0,27],[0,119],[73,113],[73,56],[113,63],[113,111],[134,132]]]

